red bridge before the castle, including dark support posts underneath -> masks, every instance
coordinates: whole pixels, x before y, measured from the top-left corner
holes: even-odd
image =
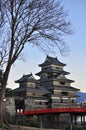
[[[50,120],[50,117],[52,117],[53,121],[55,121],[54,119],[56,119],[57,117],[57,122],[52,122],[52,124],[54,123],[55,125],[56,123],[57,125],[57,123],[59,122],[60,114],[63,114],[64,116],[65,114],[69,115],[68,117],[69,122],[70,122],[69,124],[77,124],[78,117],[80,117],[80,122],[79,122],[80,124],[86,124],[86,107],[47,108],[47,109],[36,109],[36,110],[19,112],[19,115],[29,115],[29,116],[37,115],[38,119],[41,120],[41,127],[44,124],[43,119],[44,117],[46,118],[46,115],[47,116],[49,115],[49,120]],[[47,122],[48,124],[49,124],[49,120]],[[59,122],[59,124],[61,124],[61,122]],[[51,126],[51,122],[49,126]]]

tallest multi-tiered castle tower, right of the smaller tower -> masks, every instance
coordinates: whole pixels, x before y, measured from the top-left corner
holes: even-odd
[[[41,71],[36,75],[40,77],[40,87],[42,86],[50,92],[48,107],[76,106],[76,92],[79,89],[72,87],[71,83],[74,81],[66,77],[69,74],[69,72],[64,71],[66,64],[57,58],[47,56],[39,66]]]

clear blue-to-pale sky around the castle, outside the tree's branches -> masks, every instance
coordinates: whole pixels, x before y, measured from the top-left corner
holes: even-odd
[[[71,86],[86,92],[86,0],[64,0],[64,6],[68,10],[68,18],[75,31],[75,34],[65,37],[71,51],[69,56],[63,57],[57,49],[56,54],[50,56],[57,57],[59,61],[66,64],[64,70],[70,72],[67,77],[75,81]],[[30,47],[29,51],[26,48],[25,55],[26,62],[17,61],[11,69],[8,87],[12,89],[18,87],[14,81],[21,78],[23,74],[39,72],[38,64],[46,58],[46,54],[36,47]]]

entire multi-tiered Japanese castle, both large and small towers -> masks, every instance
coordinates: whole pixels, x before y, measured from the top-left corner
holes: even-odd
[[[36,73],[39,80],[32,73],[16,80],[19,83],[19,87],[13,90],[16,110],[78,106],[76,93],[80,90],[71,86],[74,81],[66,77],[70,73],[64,70],[64,66],[66,64],[57,58],[47,56],[39,64],[41,70]]]

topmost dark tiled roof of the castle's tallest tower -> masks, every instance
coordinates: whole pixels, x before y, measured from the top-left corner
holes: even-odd
[[[51,65],[51,64],[58,65],[58,66],[65,66],[66,65],[66,64],[60,62],[57,58],[50,57],[47,55],[45,61],[42,64],[40,64],[39,66],[43,67],[43,66],[47,66],[47,65]]]

